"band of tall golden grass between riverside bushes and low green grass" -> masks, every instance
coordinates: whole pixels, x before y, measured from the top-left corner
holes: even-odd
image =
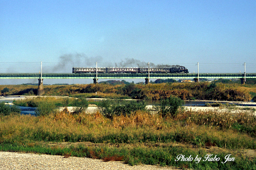
[[[0,134],[2,142],[24,140],[94,143],[160,141],[192,145],[195,145],[196,137],[201,136],[201,142],[204,145],[217,145],[221,148],[256,148],[254,118],[245,114],[237,117],[218,118],[218,116],[214,113],[208,116],[185,112],[184,115],[180,113],[176,119],[173,119],[142,111],[134,112],[130,116],[113,116],[113,120],[105,118],[100,113],[73,115],[57,112],[44,117],[15,115],[1,118]],[[249,129],[240,131],[237,129],[238,126]],[[9,136],[9,134],[12,135]]]

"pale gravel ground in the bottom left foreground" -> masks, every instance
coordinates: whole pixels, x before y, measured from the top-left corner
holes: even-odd
[[[152,165],[136,165],[129,166],[120,161],[103,162],[98,159],[68,157],[63,158],[59,155],[45,155],[32,153],[17,153],[17,152],[0,152],[0,169],[88,169],[88,170],[108,170],[108,169],[138,169],[138,170],[178,170],[171,167],[161,167]]]

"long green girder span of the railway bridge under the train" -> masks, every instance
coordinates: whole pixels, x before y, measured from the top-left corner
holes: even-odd
[[[256,78],[256,73],[199,73],[199,78]],[[98,73],[98,79],[147,79],[148,73]],[[40,73],[0,73],[0,79],[40,79]],[[42,73],[42,79],[95,79],[95,73]],[[195,79],[197,73],[150,73],[152,79]]]

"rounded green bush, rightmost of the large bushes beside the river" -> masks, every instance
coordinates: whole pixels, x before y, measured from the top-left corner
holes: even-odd
[[[178,97],[169,97],[167,99],[161,100],[159,106],[155,106],[155,110],[162,117],[167,115],[175,116],[178,112],[178,108],[184,104],[184,101]]]

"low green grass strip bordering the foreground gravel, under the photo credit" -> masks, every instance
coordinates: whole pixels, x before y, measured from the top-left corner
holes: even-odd
[[[33,146],[30,146],[33,145]],[[256,160],[249,157],[240,157],[238,154],[232,154],[235,161],[225,162],[224,157],[230,153],[218,152],[208,153],[204,150],[180,147],[145,147],[145,146],[121,146],[119,148],[103,145],[98,147],[83,146],[77,147],[58,147],[58,146],[42,146],[35,144],[2,144],[0,151],[22,151],[50,155],[62,156],[75,156],[75,157],[88,157],[102,160],[121,160],[129,165],[148,164],[159,166],[175,166],[179,168],[192,168],[192,169],[255,169]],[[185,157],[191,155],[192,158],[196,156],[201,157],[199,163],[192,161],[175,161],[177,156],[183,154]],[[219,161],[203,161],[205,155],[213,154],[220,158]]]

